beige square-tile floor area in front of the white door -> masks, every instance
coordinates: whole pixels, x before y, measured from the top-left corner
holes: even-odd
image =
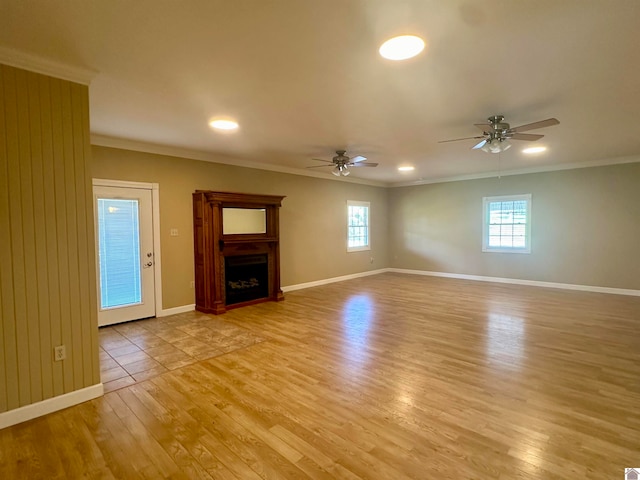
[[[101,327],[105,392],[264,341],[214,315],[187,312]]]

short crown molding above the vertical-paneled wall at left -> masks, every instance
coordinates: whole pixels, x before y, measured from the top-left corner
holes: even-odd
[[[0,63],[82,85],[91,84],[93,78],[98,74],[95,70],[66,65],[55,60],[2,46],[0,46]]]

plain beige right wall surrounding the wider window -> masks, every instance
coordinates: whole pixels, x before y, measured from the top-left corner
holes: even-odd
[[[531,254],[482,253],[482,197],[532,194]],[[640,289],[640,163],[389,192],[392,267]]]

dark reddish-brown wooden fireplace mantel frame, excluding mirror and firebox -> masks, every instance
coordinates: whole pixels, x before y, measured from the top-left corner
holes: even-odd
[[[278,212],[284,196],[196,190],[193,194],[193,240],[196,310],[216,315],[229,308],[281,301]],[[225,234],[224,209],[264,209],[265,231]],[[227,304],[225,258],[266,255],[268,288],[264,295]],[[233,293],[233,291],[232,291]]]

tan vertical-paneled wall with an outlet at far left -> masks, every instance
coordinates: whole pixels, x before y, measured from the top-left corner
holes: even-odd
[[[0,65],[0,412],[100,383],[90,153],[86,86]]]

